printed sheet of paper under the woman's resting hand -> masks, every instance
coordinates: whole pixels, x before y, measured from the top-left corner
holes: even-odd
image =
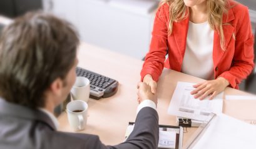
[[[223,92],[218,94],[213,100],[209,100],[209,97],[199,100],[190,94],[195,89],[193,85],[195,84],[187,82],[177,83],[168,108],[168,114],[195,120],[205,120],[212,112],[222,113]]]

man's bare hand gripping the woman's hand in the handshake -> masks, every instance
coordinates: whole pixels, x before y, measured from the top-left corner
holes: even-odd
[[[152,100],[153,102],[156,103],[157,105],[157,97],[156,94],[153,94],[151,92],[151,87],[150,85],[144,83],[144,82],[139,82],[137,85],[137,95],[138,95],[138,102],[141,103],[143,100]]]

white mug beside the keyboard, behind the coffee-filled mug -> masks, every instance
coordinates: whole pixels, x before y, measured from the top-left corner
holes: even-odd
[[[71,95],[74,100],[88,102],[90,96],[90,80],[86,77],[76,77],[76,82],[74,82],[71,89]]]

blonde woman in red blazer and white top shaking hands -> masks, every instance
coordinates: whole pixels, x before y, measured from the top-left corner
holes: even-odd
[[[213,99],[228,85],[238,89],[254,67],[253,57],[247,7],[231,0],[164,0],[156,12],[141,80],[155,93],[166,67],[207,80],[194,85],[191,94]]]

